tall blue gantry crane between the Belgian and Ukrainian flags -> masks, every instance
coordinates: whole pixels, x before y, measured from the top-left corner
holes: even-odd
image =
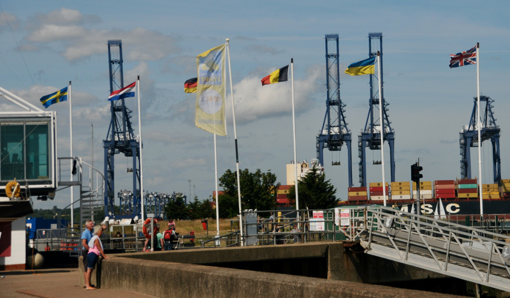
[[[317,134],[317,159],[324,165],[324,148],[340,151],[347,146],[347,167],[349,185],[352,186],[351,133],[344,117],[345,104],[340,100],[340,68],[338,55],[338,34],[326,34],[326,114],[322,129]],[[327,121],[327,122],[326,122]],[[331,161],[331,165],[340,165],[340,161]]]

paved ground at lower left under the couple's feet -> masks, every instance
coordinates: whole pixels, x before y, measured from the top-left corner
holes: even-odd
[[[80,287],[79,279],[80,273],[78,268],[0,271],[0,297],[155,297],[131,291],[110,289],[85,290],[83,287]]]

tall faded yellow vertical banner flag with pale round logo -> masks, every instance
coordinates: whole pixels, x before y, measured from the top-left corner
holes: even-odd
[[[226,136],[225,44],[196,56],[195,125],[207,132]]]

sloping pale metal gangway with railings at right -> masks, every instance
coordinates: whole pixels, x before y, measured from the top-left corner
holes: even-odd
[[[346,233],[365,252],[510,291],[510,237],[373,205],[350,210]]]

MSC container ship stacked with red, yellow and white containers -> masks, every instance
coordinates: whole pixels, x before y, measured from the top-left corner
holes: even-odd
[[[347,201],[342,205],[384,204],[405,212],[414,212],[414,203],[420,199],[422,215],[447,216],[455,220],[467,215],[500,215],[510,219],[510,179],[495,184],[482,184],[479,193],[477,179],[435,180],[416,182],[369,183],[368,187],[349,187]],[[508,218],[506,218],[508,216]]]

